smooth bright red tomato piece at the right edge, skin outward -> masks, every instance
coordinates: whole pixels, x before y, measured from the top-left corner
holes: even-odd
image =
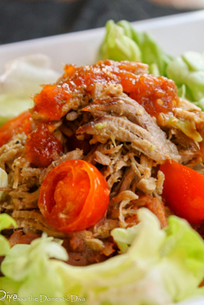
[[[204,220],[204,176],[173,160],[167,160],[160,170],[165,175],[162,196],[167,205],[192,224]]]

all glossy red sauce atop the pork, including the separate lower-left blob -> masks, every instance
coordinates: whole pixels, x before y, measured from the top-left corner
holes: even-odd
[[[64,75],[58,84],[45,85],[34,98],[31,109],[36,121],[49,124],[61,118],[71,109],[86,106],[93,98],[96,84],[121,84],[123,92],[140,103],[146,111],[157,117],[160,112],[167,113],[178,105],[176,86],[165,77],[137,75],[147,66],[134,62],[114,62],[104,60],[90,66],[66,65]],[[45,126],[45,125],[44,125]],[[46,167],[61,150],[54,135],[39,129],[29,136],[26,152],[29,161],[36,166]],[[45,151],[43,151],[45,149]],[[40,160],[40,162],[36,160]]]

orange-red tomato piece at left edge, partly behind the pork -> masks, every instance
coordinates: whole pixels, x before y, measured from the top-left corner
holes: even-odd
[[[0,147],[8,143],[14,135],[25,132],[28,135],[32,131],[32,118],[29,110],[24,111],[18,117],[7,121],[0,127]]]

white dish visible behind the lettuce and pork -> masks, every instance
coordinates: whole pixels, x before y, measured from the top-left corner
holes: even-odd
[[[133,26],[151,33],[170,55],[177,56],[187,50],[204,52],[204,10],[137,21]],[[99,28],[0,45],[0,74],[9,60],[33,53],[50,56],[53,68],[61,73],[63,63],[93,63],[104,34],[105,29]],[[180,305],[204,305],[204,297]]]

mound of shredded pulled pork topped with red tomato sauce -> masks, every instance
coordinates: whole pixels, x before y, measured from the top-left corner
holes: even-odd
[[[110,232],[137,224],[141,206],[158,217],[162,228],[167,225],[171,211],[162,199],[159,165],[167,159],[190,167],[202,162],[204,116],[178,98],[172,81],[148,75],[147,68],[109,60],[67,65],[56,84],[34,97],[36,130],[27,140],[18,134],[0,148],[0,166],[9,180],[0,211],[9,213],[19,228],[11,245],[44,231],[64,239],[69,264],[87,265],[118,253]],[[72,159],[86,160],[101,171],[110,203],[95,226],[66,235],[44,219],[38,196],[47,174]]]

